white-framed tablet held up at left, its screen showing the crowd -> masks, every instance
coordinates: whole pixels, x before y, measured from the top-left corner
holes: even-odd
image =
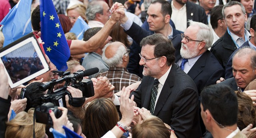
[[[11,88],[26,83],[50,70],[33,33],[0,49],[0,63],[4,64]]]

